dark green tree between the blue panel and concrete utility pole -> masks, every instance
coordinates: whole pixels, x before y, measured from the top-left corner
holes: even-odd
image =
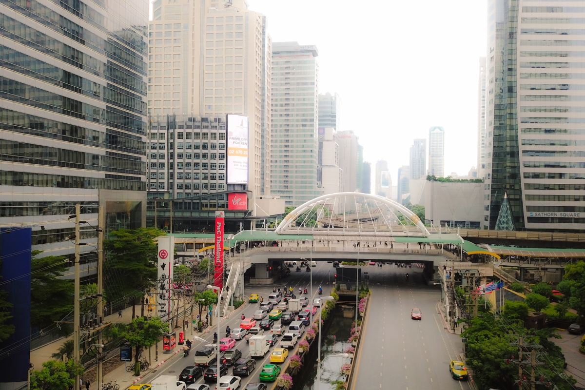
[[[33,251],[30,275],[30,322],[46,327],[64,319],[73,311],[74,286],[71,280],[61,279],[64,256],[36,258],[42,251]],[[67,327],[68,329],[69,327]]]

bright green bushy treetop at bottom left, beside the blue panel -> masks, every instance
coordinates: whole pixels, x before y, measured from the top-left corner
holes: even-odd
[[[75,384],[75,375],[82,375],[85,368],[73,360],[49,360],[40,371],[30,373],[31,390],[68,390]]]

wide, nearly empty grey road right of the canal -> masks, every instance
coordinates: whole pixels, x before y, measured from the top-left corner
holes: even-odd
[[[367,353],[357,354],[352,390],[469,390],[467,382],[449,374],[449,361],[459,360],[462,348],[436,313],[439,288],[425,284],[421,268],[387,264],[368,271],[373,295],[360,348]],[[420,321],[411,319],[415,307],[421,309]]]

